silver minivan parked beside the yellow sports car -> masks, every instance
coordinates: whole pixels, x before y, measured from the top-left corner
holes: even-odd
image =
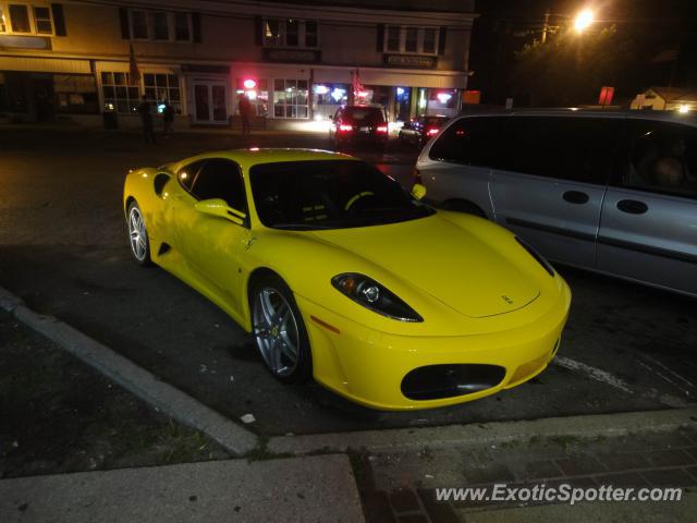
[[[416,182],[552,260],[697,296],[697,120],[648,111],[461,117]]]

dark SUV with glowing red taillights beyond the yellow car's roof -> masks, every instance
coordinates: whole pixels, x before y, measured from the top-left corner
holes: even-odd
[[[388,119],[379,106],[345,106],[337,111],[329,131],[335,148],[364,143],[384,147],[388,142]]]

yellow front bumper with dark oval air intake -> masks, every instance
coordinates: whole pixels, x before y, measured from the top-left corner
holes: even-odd
[[[381,410],[463,403],[527,381],[554,357],[571,305],[571,291],[564,283],[548,312],[522,327],[486,335],[426,337],[380,332],[295,297],[313,346],[315,379],[352,401]],[[503,378],[484,390],[447,398],[415,400],[403,393],[402,382],[412,370],[458,364],[496,365],[504,369]]]

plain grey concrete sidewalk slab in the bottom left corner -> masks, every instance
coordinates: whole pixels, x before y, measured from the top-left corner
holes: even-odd
[[[0,521],[364,521],[348,459],[189,463],[0,481]]]

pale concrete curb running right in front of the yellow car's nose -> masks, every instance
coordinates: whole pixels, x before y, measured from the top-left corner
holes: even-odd
[[[639,433],[667,433],[686,426],[697,427],[697,406],[433,428],[280,436],[269,440],[268,450],[299,455],[318,451],[345,452],[348,449],[386,452],[423,449],[424,447],[488,447],[509,441],[525,443],[533,438],[576,437],[585,439]]]

